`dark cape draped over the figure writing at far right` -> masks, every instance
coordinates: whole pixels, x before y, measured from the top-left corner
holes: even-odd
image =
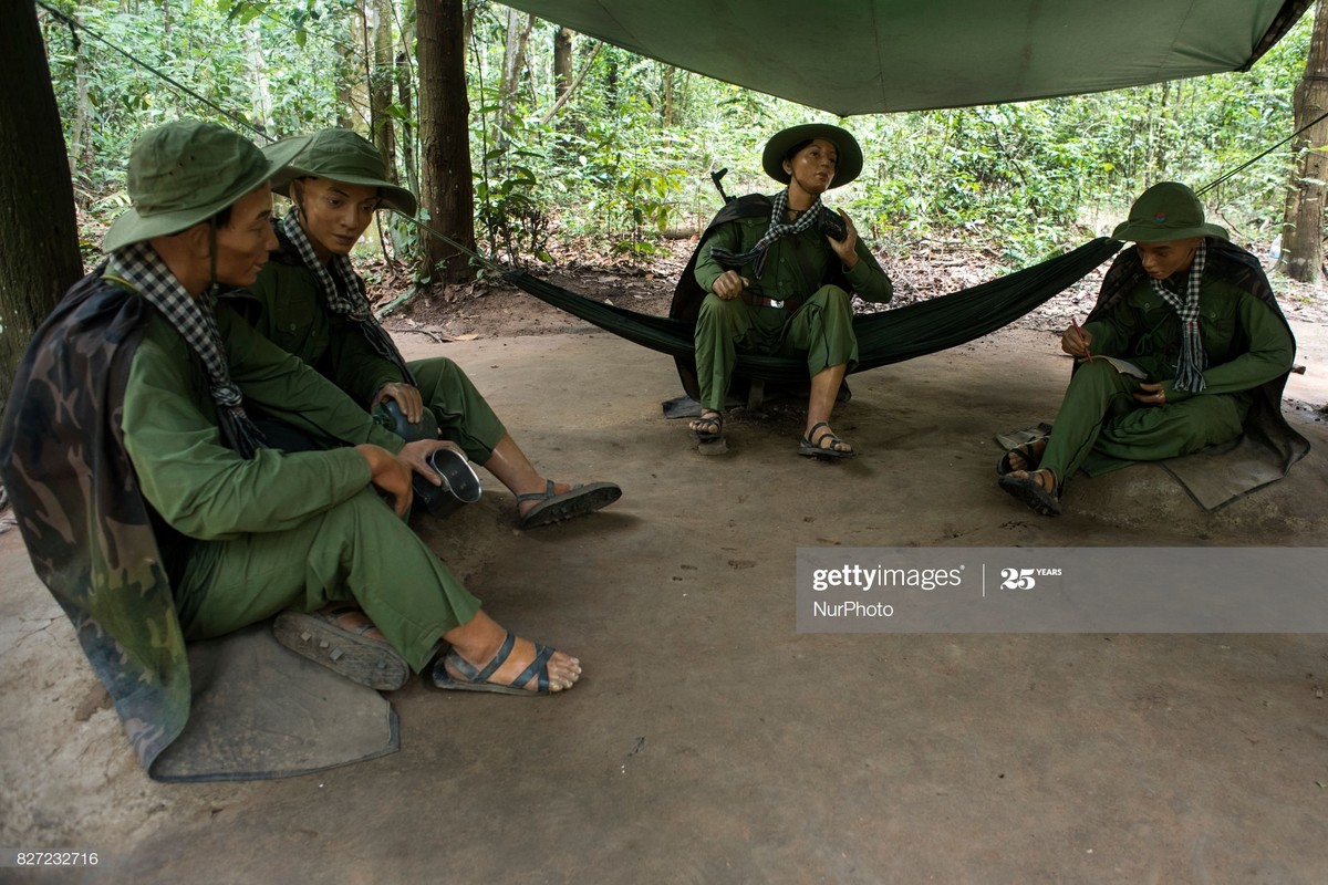
[[[1208,257],[1204,273],[1227,280],[1267,304],[1278,314],[1278,320],[1282,321],[1287,334],[1291,336],[1292,345],[1295,345],[1296,337],[1291,332],[1287,317],[1282,313],[1282,305],[1278,304],[1278,299],[1272,293],[1272,285],[1268,283],[1259,259],[1227,240],[1215,236],[1210,236],[1207,240]],[[1130,247],[1121,252],[1102,277],[1097,304],[1089,312],[1085,322],[1092,322],[1110,313],[1134,287],[1145,280],[1147,280],[1147,275],[1143,272],[1138,248]],[[1260,385],[1255,403],[1246,418],[1246,435],[1250,437],[1251,442],[1258,443],[1259,448],[1266,452],[1270,464],[1276,466],[1283,475],[1309,452],[1309,441],[1292,430],[1282,414],[1282,391],[1287,386],[1287,375],[1289,374],[1288,368],[1272,381]]]

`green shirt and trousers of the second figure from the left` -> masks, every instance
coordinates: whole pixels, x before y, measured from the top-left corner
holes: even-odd
[[[396,362],[374,350],[360,322],[328,310],[317,277],[290,248],[280,224],[274,227],[283,248],[248,288],[251,304],[240,308],[254,326],[365,409],[384,385],[413,383],[442,435],[471,460],[489,460],[507,431],[466,373],[437,357],[405,364],[413,379],[405,377]]]

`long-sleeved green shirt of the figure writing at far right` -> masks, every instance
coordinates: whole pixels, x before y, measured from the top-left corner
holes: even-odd
[[[1134,362],[1162,381],[1167,402],[1195,395],[1175,389],[1181,318],[1147,280],[1102,318],[1084,325],[1090,350]],[[1199,292],[1199,338],[1208,356],[1198,395],[1252,390],[1291,368],[1295,344],[1267,304],[1226,280],[1204,279]]]

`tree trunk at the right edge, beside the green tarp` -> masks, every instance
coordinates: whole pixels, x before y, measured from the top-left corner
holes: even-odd
[[[1305,73],[1296,85],[1295,130],[1328,110],[1328,12],[1320,0]],[[1287,192],[1282,234],[1282,267],[1287,276],[1316,283],[1323,276],[1324,180],[1328,179],[1328,121],[1320,121],[1292,142],[1296,172]]]

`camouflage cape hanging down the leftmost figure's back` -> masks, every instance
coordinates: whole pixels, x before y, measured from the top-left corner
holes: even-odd
[[[33,336],[0,425],[0,480],[37,577],[73,622],[143,768],[185,727],[189,659],[154,517],[120,431],[153,308],[101,279],[74,284]]]

